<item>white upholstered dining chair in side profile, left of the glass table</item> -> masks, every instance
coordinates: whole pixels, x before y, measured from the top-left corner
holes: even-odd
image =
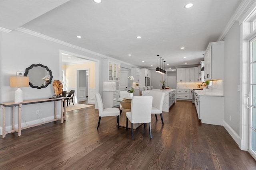
[[[106,117],[106,116],[116,116],[116,120],[117,120],[118,128],[119,128],[119,115],[120,115],[119,109],[118,108],[104,108],[100,94],[95,93],[95,97],[96,97],[96,102],[97,102],[98,110],[99,110],[99,121],[98,121],[97,129],[100,126],[101,117]]]

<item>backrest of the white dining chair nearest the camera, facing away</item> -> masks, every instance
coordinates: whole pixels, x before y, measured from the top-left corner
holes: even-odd
[[[133,96],[131,104],[131,123],[151,122],[152,96]]]

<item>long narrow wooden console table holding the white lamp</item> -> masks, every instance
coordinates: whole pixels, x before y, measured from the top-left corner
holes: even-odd
[[[0,107],[3,109],[3,135],[2,137],[5,138],[5,135],[8,133],[14,133],[14,132],[18,132],[18,136],[21,135],[21,130],[22,129],[27,129],[29,127],[34,127],[37,125],[42,125],[45,123],[49,123],[52,121],[57,121],[60,120],[61,123],[63,123],[63,120],[66,120],[66,102],[65,100],[68,100],[69,97],[65,97],[65,98],[55,98],[55,99],[37,99],[37,100],[26,100],[23,101],[21,103],[14,103],[14,102],[7,102],[7,103],[1,103]],[[62,109],[61,109],[61,117],[57,118],[57,108],[56,108],[56,104],[57,101],[62,101],[63,105]],[[49,120],[49,121],[45,121],[45,122],[41,122],[41,123],[37,123],[35,125],[30,125],[30,126],[26,126],[21,128],[21,111],[22,111],[22,105],[28,105],[28,104],[38,104],[38,103],[45,103],[45,102],[54,102],[54,119],[53,120]],[[14,118],[15,118],[15,107],[18,106],[18,129],[16,129],[14,127]],[[12,107],[12,130],[11,131],[6,131],[6,107]]]

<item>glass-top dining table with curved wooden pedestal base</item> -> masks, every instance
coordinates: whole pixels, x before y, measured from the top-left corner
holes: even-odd
[[[131,111],[131,104],[132,104],[132,98],[114,98],[113,99],[116,102],[120,102],[122,105],[122,112],[119,117],[119,127],[125,127],[126,128],[126,112]],[[140,127],[143,123],[134,123],[133,129],[136,130],[138,127]],[[128,128],[131,129],[131,122],[128,120]]]

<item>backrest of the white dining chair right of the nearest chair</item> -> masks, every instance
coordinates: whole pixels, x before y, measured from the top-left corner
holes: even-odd
[[[153,102],[152,106],[158,108],[160,111],[163,109],[164,104],[164,93],[162,92],[149,92],[149,93],[143,93],[143,96],[152,96]]]

